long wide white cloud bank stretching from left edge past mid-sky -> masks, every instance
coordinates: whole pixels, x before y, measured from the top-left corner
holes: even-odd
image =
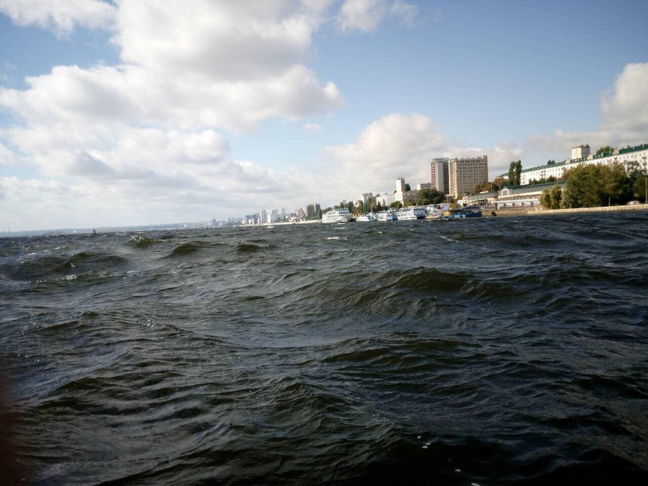
[[[57,66],[26,82],[25,91],[0,88],[0,106],[34,123],[118,122],[241,132],[265,119],[295,120],[343,103],[335,84],[320,84],[303,65],[248,82],[161,76],[135,65]]]

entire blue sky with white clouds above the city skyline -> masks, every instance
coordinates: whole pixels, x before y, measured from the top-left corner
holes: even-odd
[[[242,216],[648,143],[648,3],[0,0],[0,229]]]

